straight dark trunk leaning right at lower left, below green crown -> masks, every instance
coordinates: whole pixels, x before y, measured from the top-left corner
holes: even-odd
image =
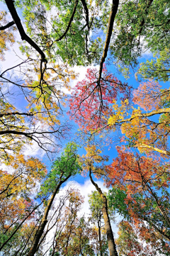
[[[40,246],[40,245],[38,245],[38,243],[40,242],[40,238],[42,237],[42,233],[45,230],[45,226],[47,224],[47,216],[48,216],[48,213],[49,213],[50,208],[52,206],[52,203],[53,203],[53,201],[55,199],[55,196],[56,196],[57,192],[59,191],[60,187],[62,186],[62,184],[64,182],[66,182],[67,179],[69,179],[70,176],[71,176],[71,174],[69,174],[69,176],[67,178],[65,178],[63,181],[61,180],[62,176],[60,177],[60,182],[57,185],[54,193],[51,196],[51,199],[48,201],[48,204],[47,204],[47,206],[45,208],[45,212],[44,212],[44,215],[42,217],[42,221],[40,223],[40,226],[39,226],[37,232],[35,233],[35,237],[34,237],[34,240],[33,240],[33,245],[30,247],[30,250],[28,252],[28,256],[35,255],[35,252],[38,250],[38,247]]]

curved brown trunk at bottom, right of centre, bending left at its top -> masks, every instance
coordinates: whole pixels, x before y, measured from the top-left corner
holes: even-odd
[[[107,239],[108,239],[109,254],[110,254],[110,256],[118,256],[118,252],[117,252],[116,247],[115,247],[115,240],[114,240],[114,236],[113,236],[113,231],[112,231],[112,228],[111,228],[111,222],[110,222],[110,218],[108,216],[108,204],[107,204],[106,196],[103,195],[103,192],[98,187],[98,184],[96,184],[96,182],[94,182],[94,179],[91,177],[91,168],[89,170],[89,176],[90,176],[90,179],[91,179],[91,183],[94,184],[98,193],[101,196],[101,199],[103,200],[102,213],[103,213],[103,218],[104,218],[104,223],[105,223],[106,235],[107,235]]]

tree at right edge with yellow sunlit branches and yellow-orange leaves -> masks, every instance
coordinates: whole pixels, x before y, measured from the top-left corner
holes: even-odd
[[[138,108],[131,107],[127,102],[120,106],[115,102],[115,113],[108,119],[108,126],[115,130],[121,126],[130,147],[138,148],[141,152],[159,152],[169,155],[169,89],[160,89],[155,82],[145,82],[135,91],[133,101]],[[145,111],[142,111],[143,108]],[[121,112],[121,113],[120,113]],[[159,115],[159,120],[152,119]]]

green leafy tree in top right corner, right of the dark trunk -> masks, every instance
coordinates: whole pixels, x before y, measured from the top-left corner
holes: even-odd
[[[169,1],[166,0],[159,3],[153,0],[123,1],[121,4],[115,18],[115,30],[110,49],[115,58],[114,62],[126,76],[130,72],[130,67],[135,67],[138,58],[147,50],[157,52],[160,56],[158,61],[160,65],[154,65],[156,77],[158,72],[166,72],[164,64],[161,64],[161,55],[164,50],[169,49],[167,9],[169,9]],[[152,62],[150,64],[152,66]],[[147,65],[142,65],[145,70]],[[161,74],[160,76],[162,77]]]

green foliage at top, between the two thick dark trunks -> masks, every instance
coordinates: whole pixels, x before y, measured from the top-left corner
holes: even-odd
[[[98,62],[102,50],[101,40],[93,40],[89,33],[96,28],[104,28],[108,21],[109,5],[108,1],[94,1],[93,5],[82,3],[84,1],[18,0],[16,6],[23,10],[31,38],[42,45],[48,57],[54,61],[56,56],[61,57],[69,65],[89,65]],[[75,7],[73,21],[69,26]],[[24,50],[30,55],[33,48],[31,51],[30,48]]]

